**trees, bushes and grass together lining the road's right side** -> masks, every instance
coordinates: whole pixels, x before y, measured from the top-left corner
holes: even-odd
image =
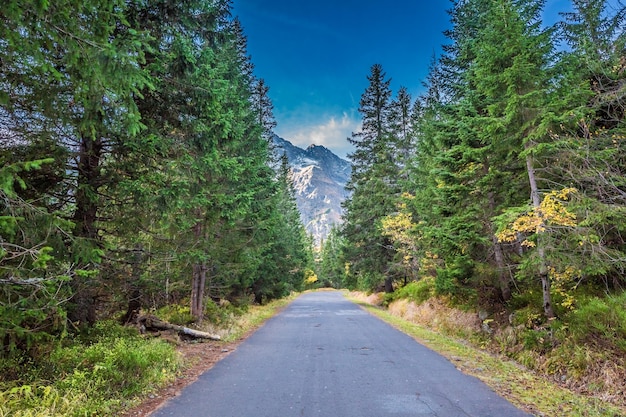
[[[417,97],[370,68],[316,273],[625,415],[626,7],[545,7],[453,2]]]

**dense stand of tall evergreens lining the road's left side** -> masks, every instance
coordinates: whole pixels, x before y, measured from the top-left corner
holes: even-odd
[[[300,290],[311,241],[228,1],[0,12],[0,341]]]

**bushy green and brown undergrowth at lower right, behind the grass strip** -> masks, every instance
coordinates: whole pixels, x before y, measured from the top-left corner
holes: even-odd
[[[483,335],[493,351],[579,393],[626,405],[626,293],[581,297],[550,322],[532,308],[511,317]]]

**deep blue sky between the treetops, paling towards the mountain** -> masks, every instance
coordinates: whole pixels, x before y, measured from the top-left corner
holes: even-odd
[[[359,99],[373,64],[413,97],[448,43],[449,0],[234,0],[257,77],[270,87],[275,132],[341,157],[359,128]],[[546,21],[570,8],[548,0]]]

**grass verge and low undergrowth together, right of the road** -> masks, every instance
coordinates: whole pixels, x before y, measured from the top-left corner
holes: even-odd
[[[555,323],[560,331],[550,335],[532,320],[517,325],[493,316],[481,320],[479,311],[446,297],[407,296],[418,288],[430,292],[425,287],[431,286],[420,282],[393,295],[350,292],[349,297],[534,415],[626,415],[620,334],[626,320],[617,317],[624,314],[626,295],[591,300],[580,313]],[[589,309],[603,314],[581,320]]]

